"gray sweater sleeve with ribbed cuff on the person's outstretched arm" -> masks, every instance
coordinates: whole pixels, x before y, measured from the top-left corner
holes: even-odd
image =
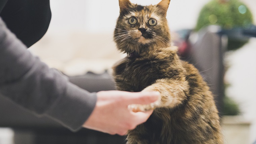
[[[49,52],[50,53],[50,52]],[[96,103],[96,93],[70,83],[27,50],[0,18],[0,93],[71,131],[82,128]]]

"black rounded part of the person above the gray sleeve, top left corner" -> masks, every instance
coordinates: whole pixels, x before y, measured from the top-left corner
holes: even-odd
[[[0,1],[0,17],[27,47],[43,37],[51,16],[49,0]]]

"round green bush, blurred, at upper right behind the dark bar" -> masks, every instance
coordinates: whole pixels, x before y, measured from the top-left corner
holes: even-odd
[[[220,25],[223,29],[248,27],[253,23],[249,8],[238,0],[212,0],[200,11],[195,30],[208,25]],[[242,47],[246,40],[228,39],[228,50]]]

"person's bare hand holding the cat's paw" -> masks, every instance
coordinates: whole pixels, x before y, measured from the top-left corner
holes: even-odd
[[[130,104],[149,104],[159,98],[159,92],[97,92],[96,106],[83,127],[109,134],[125,135],[128,130],[148,120],[153,110],[132,112]]]

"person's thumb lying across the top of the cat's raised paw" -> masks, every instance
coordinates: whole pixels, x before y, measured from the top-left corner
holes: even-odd
[[[127,104],[150,104],[155,102],[160,98],[160,93],[158,91],[142,91],[133,92],[128,99],[126,99]]]

